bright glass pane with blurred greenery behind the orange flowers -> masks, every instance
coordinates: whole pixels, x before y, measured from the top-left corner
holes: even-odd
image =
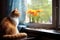
[[[52,0],[27,0],[26,23],[52,24]]]

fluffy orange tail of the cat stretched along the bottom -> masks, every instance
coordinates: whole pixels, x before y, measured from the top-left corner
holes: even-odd
[[[14,35],[3,35],[3,38],[8,38],[8,39],[22,39],[27,37],[26,33],[19,33],[19,34],[14,34]]]

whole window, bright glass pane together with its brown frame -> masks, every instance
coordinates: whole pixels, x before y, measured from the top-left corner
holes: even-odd
[[[25,0],[25,20],[30,27],[51,28],[56,25],[55,0]]]

